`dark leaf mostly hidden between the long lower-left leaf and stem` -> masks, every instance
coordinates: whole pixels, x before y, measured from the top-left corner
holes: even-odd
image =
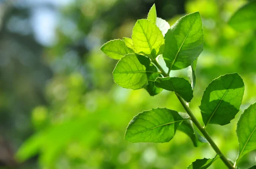
[[[179,114],[182,118],[189,118],[189,115],[187,113]],[[191,120],[184,120],[178,127],[178,130],[188,135],[191,138],[195,147],[201,146],[202,143],[207,143],[207,140],[195,131]]]

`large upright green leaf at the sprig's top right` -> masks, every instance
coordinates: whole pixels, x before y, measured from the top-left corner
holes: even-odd
[[[199,12],[181,17],[165,35],[163,59],[169,70],[188,67],[203,51],[204,35]]]

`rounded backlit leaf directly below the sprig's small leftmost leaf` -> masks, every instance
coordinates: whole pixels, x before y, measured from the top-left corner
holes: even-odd
[[[117,85],[133,90],[141,89],[148,85],[146,73],[157,73],[156,69],[155,71],[146,70],[146,66],[141,64],[137,56],[141,59],[145,58],[145,56],[137,54],[128,54],[116,64],[116,68],[113,71],[113,79]]]

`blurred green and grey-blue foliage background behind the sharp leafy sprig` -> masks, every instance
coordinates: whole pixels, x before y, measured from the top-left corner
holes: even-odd
[[[186,169],[197,158],[215,156],[208,144],[195,148],[180,131],[164,144],[123,139],[129,121],[143,110],[184,112],[174,93],[151,97],[117,86],[116,60],[99,50],[111,39],[131,37],[153,3],[170,25],[184,14],[201,14],[204,51],[190,103],[201,122],[198,106],[209,82],[233,72],[244,79],[236,119],[207,127],[227,158],[236,159],[237,120],[256,101],[256,32],[235,31],[227,21],[247,1],[0,0],[0,168]],[[187,75],[188,69],[171,71]],[[24,161],[18,166],[17,157]],[[242,169],[255,164],[256,151],[239,161]],[[226,166],[218,160],[211,168]]]

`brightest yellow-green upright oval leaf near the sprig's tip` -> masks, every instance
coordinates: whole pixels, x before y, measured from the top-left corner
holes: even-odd
[[[149,20],[137,20],[133,28],[132,40],[138,54],[155,59],[163,53],[164,38],[160,29]]]

